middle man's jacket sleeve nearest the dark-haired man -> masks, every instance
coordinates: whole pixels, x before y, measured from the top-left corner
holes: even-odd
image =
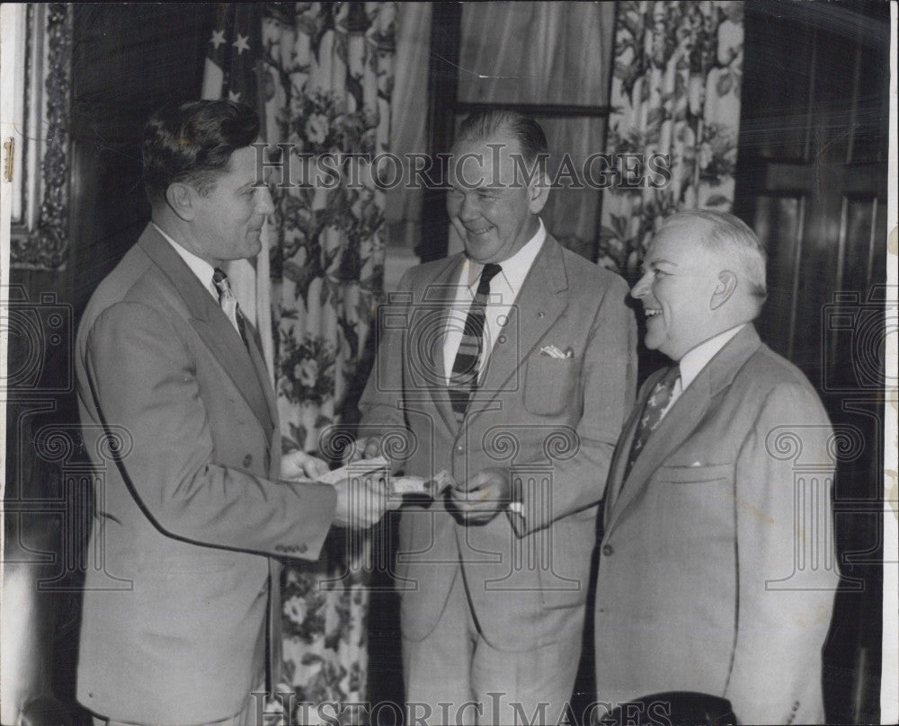
[[[359,409],[362,418],[359,425],[359,438],[386,434],[405,438],[407,421],[403,412],[403,392],[405,390],[403,374],[403,349],[405,347],[406,327],[399,323],[402,316],[410,310],[412,283],[410,273],[405,272],[397,287],[397,294],[402,302],[382,305],[376,318],[378,349],[375,354],[375,365],[360,398]],[[406,317],[408,322],[408,318]],[[394,447],[394,450],[408,451],[409,447]],[[402,468],[403,461],[396,456],[391,457],[394,468]]]

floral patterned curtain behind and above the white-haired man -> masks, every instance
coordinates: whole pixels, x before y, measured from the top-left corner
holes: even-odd
[[[664,217],[734,201],[743,3],[621,2],[614,54],[606,150],[671,156],[663,188],[603,193],[599,262],[627,274]]]

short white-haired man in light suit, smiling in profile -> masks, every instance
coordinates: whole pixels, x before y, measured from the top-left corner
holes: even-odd
[[[598,701],[691,691],[743,723],[823,722],[832,429],[752,326],[765,252],[736,217],[690,211],[664,221],[643,264],[631,295],[646,347],[675,365],[643,385],[611,466]]]

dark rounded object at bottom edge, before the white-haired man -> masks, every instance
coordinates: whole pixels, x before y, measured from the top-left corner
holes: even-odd
[[[606,713],[600,726],[736,726],[726,698],[692,691],[645,695]]]

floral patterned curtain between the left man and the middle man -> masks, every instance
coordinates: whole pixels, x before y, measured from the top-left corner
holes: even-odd
[[[395,25],[395,3],[266,4],[268,142],[292,145],[282,154],[386,151]],[[291,156],[291,180],[301,180],[303,168]],[[273,182],[281,432],[286,450],[316,451],[319,434],[339,422],[364,374],[360,363],[383,288],[384,194],[343,177],[336,185],[287,188],[277,186],[275,173]],[[281,690],[293,688],[298,702],[364,701],[369,598],[360,564],[369,543],[338,535],[325,546],[319,562],[291,563],[285,571]]]

